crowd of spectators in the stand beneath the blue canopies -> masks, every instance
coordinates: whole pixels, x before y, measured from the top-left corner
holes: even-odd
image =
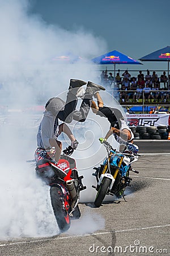
[[[107,88],[108,92],[113,94],[120,103],[138,102],[145,103],[170,103],[170,75],[169,79],[166,72],[162,72],[160,76],[153,71],[131,76],[126,70],[123,73],[116,73],[115,79],[113,73],[102,71],[100,74],[100,84]]]

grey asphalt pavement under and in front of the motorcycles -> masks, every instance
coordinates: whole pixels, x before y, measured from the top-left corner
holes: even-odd
[[[82,217],[54,237],[0,242],[0,255],[170,255],[170,141],[140,141],[126,202],[116,199],[94,208],[80,204]]]

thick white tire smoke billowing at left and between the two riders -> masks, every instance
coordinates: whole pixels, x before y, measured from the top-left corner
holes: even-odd
[[[58,233],[58,226],[50,205],[49,187],[36,179],[35,167],[25,162],[33,159],[41,120],[41,115],[30,108],[45,105],[50,97],[67,90],[71,78],[98,82],[97,67],[87,59],[106,52],[106,44],[83,29],[65,31],[46,24],[37,15],[28,15],[27,0],[0,0],[0,6],[0,238],[52,236]],[[57,60],[66,55],[81,58],[71,64],[65,58]],[[88,143],[93,139],[92,146],[74,153],[80,172],[89,173],[83,183],[94,178],[91,167],[103,156],[95,151],[95,138],[101,136],[100,129],[92,129],[86,134]],[[83,149],[80,134],[78,140]],[[87,195],[84,192],[82,200],[93,200],[93,196]]]

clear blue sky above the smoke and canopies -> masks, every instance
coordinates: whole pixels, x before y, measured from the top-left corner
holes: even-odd
[[[169,0],[31,0],[29,12],[66,31],[83,28],[104,39],[107,51],[116,49],[137,60],[170,45],[169,9]],[[141,69],[167,69],[166,63],[143,64]]]

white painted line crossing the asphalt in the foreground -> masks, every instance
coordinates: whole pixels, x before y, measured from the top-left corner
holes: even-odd
[[[168,226],[170,226],[170,224],[159,225],[159,226],[147,226],[145,228],[113,230],[113,232],[109,231],[109,232],[82,234],[82,235],[77,235],[77,236],[53,237],[53,238],[46,238],[46,239],[33,240],[33,241],[29,240],[29,241],[20,241],[20,242],[12,242],[12,243],[3,243],[0,245],[0,247],[12,246],[12,245],[22,245],[22,244],[26,244],[26,243],[49,242],[49,241],[54,241],[54,240],[63,240],[63,239],[76,238],[76,237],[101,236],[104,234],[122,233],[122,232],[138,231],[138,230],[155,229],[155,228],[167,228]]]

